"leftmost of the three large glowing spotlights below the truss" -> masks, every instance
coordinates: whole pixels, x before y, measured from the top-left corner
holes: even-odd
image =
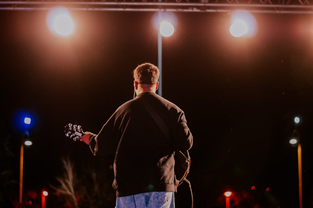
[[[74,31],[74,22],[65,7],[54,7],[47,14],[47,24],[51,32],[68,36]]]

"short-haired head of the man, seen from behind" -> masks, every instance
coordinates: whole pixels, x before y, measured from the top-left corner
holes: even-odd
[[[133,72],[136,94],[142,92],[156,92],[159,82],[160,70],[152,63],[143,63],[137,66]],[[139,88],[139,89],[138,89]]]

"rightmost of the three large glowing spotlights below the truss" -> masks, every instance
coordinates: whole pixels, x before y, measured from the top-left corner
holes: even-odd
[[[250,14],[248,11],[245,10],[236,10],[231,14],[231,22],[232,25],[230,26],[229,30],[230,33],[234,37],[240,37],[238,35],[242,34],[241,36],[248,36],[252,37],[256,34],[257,32],[257,22],[252,14]],[[235,29],[237,28],[237,29]],[[238,29],[241,28],[241,29]],[[233,32],[232,31],[242,31],[241,33],[239,32]],[[244,33],[244,31],[246,32]]]

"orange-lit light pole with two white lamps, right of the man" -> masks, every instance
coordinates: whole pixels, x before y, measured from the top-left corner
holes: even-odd
[[[292,132],[292,138],[289,140],[290,144],[298,144],[298,175],[299,175],[299,207],[302,208],[302,157],[301,157],[301,143],[300,134],[296,126],[300,122],[299,117],[295,117],[295,129]]]

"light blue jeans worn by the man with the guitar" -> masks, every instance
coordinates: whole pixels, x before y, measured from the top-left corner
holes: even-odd
[[[115,208],[175,208],[174,192],[147,192],[116,197]]]

